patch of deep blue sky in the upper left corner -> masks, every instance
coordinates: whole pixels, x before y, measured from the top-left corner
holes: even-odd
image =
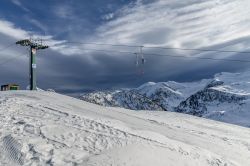
[[[132,1],[131,1],[132,2]],[[109,14],[130,3],[129,0],[3,0],[1,18],[35,33],[56,34],[67,39],[70,34],[88,35],[105,23]]]

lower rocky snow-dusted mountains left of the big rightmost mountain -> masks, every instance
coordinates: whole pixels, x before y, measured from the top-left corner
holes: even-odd
[[[102,106],[132,110],[172,111],[189,95],[206,86],[207,82],[208,80],[194,83],[148,82],[135,89],[86,93],[81,95],[81,99]]]

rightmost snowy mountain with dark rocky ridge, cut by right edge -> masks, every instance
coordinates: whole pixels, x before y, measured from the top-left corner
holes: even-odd
[[[215,75],[175,111],[250,127],[250,72]]]

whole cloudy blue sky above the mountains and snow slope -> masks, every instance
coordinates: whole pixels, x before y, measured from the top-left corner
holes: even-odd
[[[28,85],[29,50],[15,42],[30,38],[49,46],[37,52],[38,87],[69,95],[249,69],[247,62],[200,59],[250,61],[249,53],[159,48],[250,51],[249,0],[0,3],[0,84]]]

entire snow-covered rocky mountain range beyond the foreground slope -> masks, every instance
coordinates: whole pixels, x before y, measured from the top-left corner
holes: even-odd
[[[220,73],[191,83],[149,82],[135,89],[88,93],[81,99],[133,110],[176,111],[250,127],[250,71]]]

